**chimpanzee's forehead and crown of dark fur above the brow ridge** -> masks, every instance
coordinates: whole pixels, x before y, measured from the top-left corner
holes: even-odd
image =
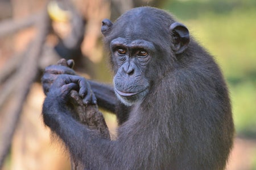
[[[150,7],[140,7],[121,15],[113,25],[112,35],[127,39],[164,37],[169,32],[172,18],[166,12]]]

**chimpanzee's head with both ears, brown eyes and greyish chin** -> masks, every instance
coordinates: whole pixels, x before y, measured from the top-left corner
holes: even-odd
[[[111,53],[114,90],[125,105],[141,102],[189,43],[183,24],[152,7],[130,10],[114,23],[104,19],[101,32]]]

